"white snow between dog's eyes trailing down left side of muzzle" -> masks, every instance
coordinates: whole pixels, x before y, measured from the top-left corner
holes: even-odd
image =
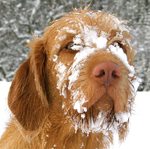
[[[79,52],[74,57],[74,62],[70,68],[71,75],[69,76],[69,90],[74,82],[78,79],[80,70],[84,66],[84,62],[89,56],[96,51],[106,48],[107,35],[101,32],[98,36],[95,28],[89,26],[84,27],[81,34],[78,34],[73,39],[72,50],[78,50]]]

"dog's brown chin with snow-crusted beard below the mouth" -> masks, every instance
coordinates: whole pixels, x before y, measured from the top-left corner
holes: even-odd
[[[84,134],[103,133],[105,135],[112,133],[114,129],[118,132],[129,122],[126,113],[114,112],[113,99],[108,94],[104,94],[86,112],[74,112],[71,118],[72,124],[76,131],[80,130]]]

